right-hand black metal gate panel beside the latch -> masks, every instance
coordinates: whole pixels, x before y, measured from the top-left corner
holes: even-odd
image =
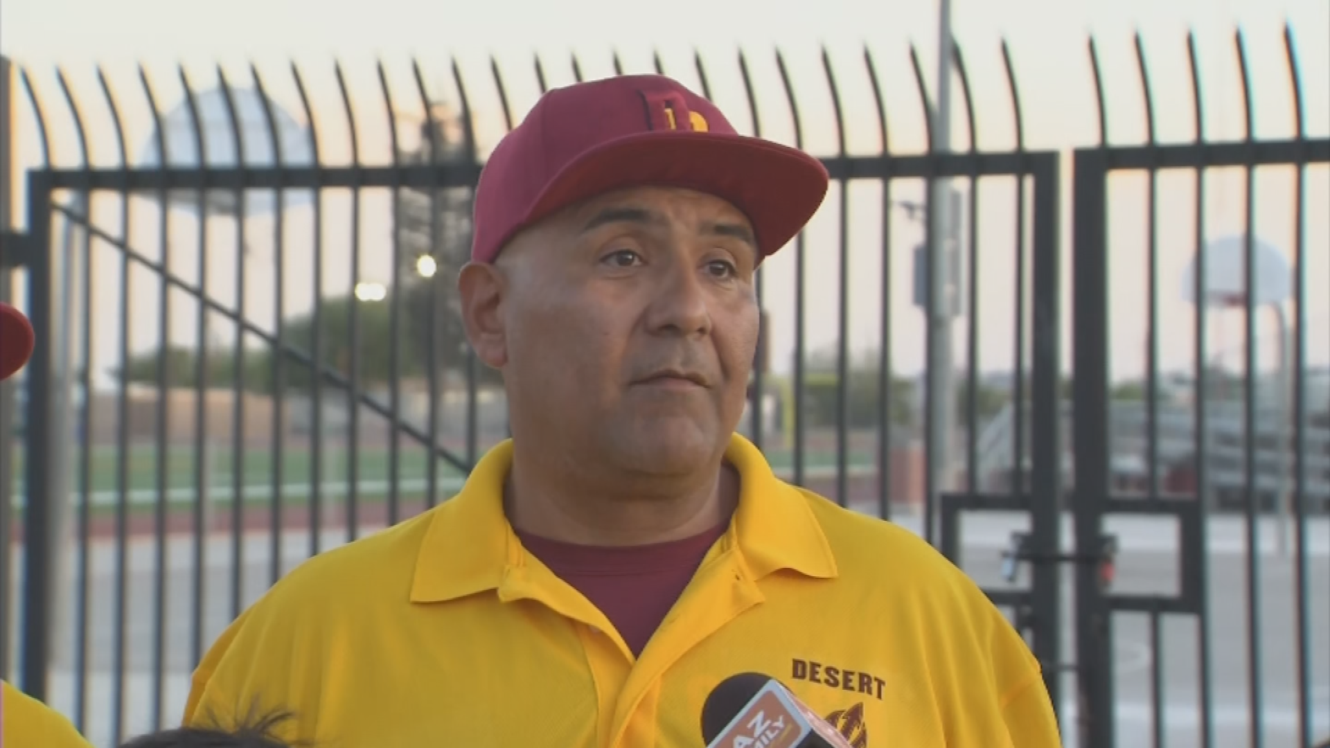
[[[1287,37],[1286,37],[1287,41]],[[1306,238],[1306,212],[1311,209],[1307,200],[1307,169],[1311,164],[1330,161],[1330,140],[1309,138],[1302,130],[1302,101],[1298,88],[1297,69],[1293,64],[1291,44],[1289,47],[1290,72],[1293,79],[1297,137],[1291,140],[1257,141],[1252,137],[1252,96],[1246,80],[1246,61],[1238,37],[1238,60],[1242,69],[1242,96],[1246,104],[1246,140],[1234,142],[1205,142],[1204,117],[1201,108],[1201,88],[1196,76],[1196,49],[1192,53],[1192,83],[1196,96],[1196,141],[1190,144],[1157,144],[1154,141],[1153,108],[1144,63],[1141,83],[1145,96],[1145,112],[1149,118],[1149,140],[1137,146],[1084,148],[1076,150],[1073,178],[1073,409],[1075,409],[1075,547],[1089,559],[1112,560],[1125,527],[1133,518],[1149,518],[1149,523],[1176,523],[1176,536],[1164,543],[1173,554],[1172,559],[1156,563],[1154,575],[1161,567],[1172,566],[1176,579],[1173,590],[1166,592],[1115,591],[1111,576],[1101,574],[1096,563],[1076,564],[1075,578],[1075,660],[1077,683],[1079,720],[1075,728],[1064,724],[1064,729],[1076,729],[1081,748],[1112,748],[1115,745],[1134,745],[1138,740],[1150,740],[1153,745],[1176,744],[1169,739],[1170,715],[1188,715],[1188,732],[1194,743],[1202,745],[1287,745],[1283,740],[1270,740],[1267,727],[1274,721],[1281,725],[1282,736],[1297,736],[1297,745],[1325,745],[1330,735],[1330,707],[1327,707],[1323,677],[1317,675],[1317,654],[1323,630],[1314,628],[1314,607],[1325,600],[1325,576],[1321,559],[1313,560],[1311,531],[1314,519],[1310,512],[1323,519],[1330,500],[1326,494],[1326,457],[1330,454],[1330,441],[1323,435],[1321,425],[1318,445],[1311,446],[1311,426],[1309,426],[1307,387],[1307,293],[1325,293],[1325,277],[1311,277],[1306,260],[1315,252],[1325,253],[1326,246],[1314,246]],[[1093,55],[1093,47],[1092,47]],[[1099,67],[1096,60],[1096,83]],[[1099,98],[1100,140],[1104,136],[1104,97]],[[1287,427],[1273,423],[1269,402],[1261,403],[1258,394],[1262,385],[1257,382],[1254,311],[1254,280],[1262,273],[1257,268],[1258,240],[1256,238],[1256,186],[1257,168],[1286,166],[1293,173],[1293,198],[1286,206],[1293,221],[1293,278],[1291,298],[1295,309],[1291,339],[1291,409],[1295,414]],[[1218,268],[1210,265],[1225,261],[1217,253],[1213,241],[1208,241],[1206,185],[1209,170],[1237,168],[1242,170],[1245,190],[1242,206],[1242,232],[1232,240],[1237,248],[1229,256],[1229,272],[1233,272],[1233,257],[1240,265],[1234,276],[1241,287],[1217,290]],[[1173,177],[1182,177],[1194,185],[1194,216],[1184,217],[1194,232],[1193,276],[1190,299],[1194,306],[1194,379],[1190,385],[1192,402],[1178,406],[1165,395],[1165,382],[1160,375],[1160,319],[1157,318],[1158,278],[1158,226],[1162,220],[1177,220],[1177,216],[1161,216],[1158,190],[1161,172],[1172,170]],[[1109,303],[1109,244],[1108,221],[1112,205],[1111,176],[1123,172],[1137,172],[1137,177],[1148,180],[1145,192],[1148,205],[1148,262],[1149,277],[1144,290],[1137,290],[1133,303],[1141,305],[1145,295],[1148,313],[1146,378],[1144,403],[1137,402],[1137,415],[1144,410],[1144,419],[1133,423],[1128,418],[1129,403],[1111,397],[1109,325],[1116,319]],[[1319,172],[1323,174],[1323,172]],[[1190,177],[1190,180],[1188,178]],[[1176,182],[1174,182],[1176,184]],[[1318,209],[1323,209],[1321,205]],[[1116,224],[1115,224],[1116,225]],[[1287,269],[1287,266],[1286,266]],[[1266,270],[1267,272],[1267,270]],[[1233,391],[1217,391],[1216,373],[1210,365],[1212,351],[1206,343],[1208,303],[1237,306],[1245,325],[1245,350],[1242,351],[1242,373]],[[1257,301],[1257,305],[1262,302]],[[1177,323],[1178,321],[1174,321]],[[1182,321],[1185,323],[1185,321]],[[1233,382],[1229,382],[1233,385]],[[1229,390],[1234,389],[1233,386]],[[1258,405],[1260,403],[1260,405]],[[1166,434],[1173,427],[1173,434]],[[1112,459],[1124,450],[1125,431],[1138,430],[1142,435],[1145,454],[1144,475],[1124,475],[1124,470]],[[1177,434],[1184,434],[1178,437]],[[1291,455],[1291,458],[1286,457]],[[1311,468],[1315,468],[1314,471]],[[1188,478],[1178,484],[1166,480],[1169,475],[1182,472]],[[1165,475],[1168,472],[1169,475]],[[1291,579],[1283,584],[1290,587],[1291,602],[1287,608],[1275,610],[1262,604],[1264,588],[1279,588],[1275,574],[1262,572],[1262,558],[1273,555],[1271,547],[1278,542],[1271,539],[1269,511],[1279,500],[1273,488],[1275,480],[1289,479],[1291,488]],[[1317,486],[1313,486],[1317,483]],[[1218,508],[1241,510],[1241,515],[1230,512],[1220,515]],[[1109,518],[1124,522],[1116,535],[1109,532]],[[1321,526],[1323,528],[1323,526]],[[1157,527],[1156,527],[1157,528]],[[1282,528],[1275,527],[1275,532]],[[1218,550],[1217,550],[1218,548]],[[1226,548],[1226,550],[1225,550]],[[1222,554],[1228,555],[1228,559]],[[1121,558],[1121,556],[1120,556]],[[1241,558],[1241,562],[1237,559]],[[1124,559],[1125,560],[1125,559]],[[1119,570],[1123,571],[1121,568]],[[1314,574],[1319,572],[1317,578]],[[1318,580],[1314,580],[1318,579]],[[1232,600],[1232,606],[1228,603]],[[1266,628],[1262,618],[1282,615],[1282,626]],[[1127,622],[1125,619],[1134,620]],[[1291,618],[1291,620],[1289,620]],[[1182,620],[1178,620],[1182,619]],[[1177,639],[1193,647],[1168,646],[1166,628],[1176,623],[1194,622],[1194,630],[1185,631]],[[1238,620],[1245,623],[1245,636],[1233,631]],[[1117,672],[1120,661],[1116,655],[1123,642],[1115,635],[1115,622],[1136,624],[1140,636],[1145,639],[1146,651],[1141,665],[1141,677],[1121,680]],[[1141,626],[1144,624],[1144,626]],[[1222,631],[1221,631],[1222,630]],[[1266,650],[1275,644],[1287,644],[1293,638],[1291,656],[1282,663],[1281,657],[1266,659]],[[1188,651],[1190,650],[1190,651]],[[1269,699],[1267,680],[1270,668],[1262,663],[1282,664],[1283,680],[1291,685],[1289,701],[1275,704]],[[1234,677],[1234,669],[1245,667],[1245,683]],[[1323,664],[1319,667],[1325,667]],[[1194,669],[1194,680],[1188,679],[1180,685],[1176,679]],[[1144,671],[1148,671],[1145,673]],[[1291,672],[1290,672],[1291,671]],[[1216,704],[1216,673],[1224,673],[1224,685],[1230,695],[1226,703]],[[1274,673],[1278,679],[1281,673]],[[1125,683],[1125,684],[1124,684]],[[1245,685],[1245,697],[1233,697],[1234,685]],[[1194,693],[1192,693],[1194,691]],[[1186,704],[1178,704],[1178,692],[1188,697]],[[1169,693],[1173,693],[1172,699]],[[1140,736],[1128,739],[1117,728],[1123,721],[1125,697],[1148,696],[1149,704],[1144,715],[1146,727],[1140,732],[1152,733],[1149,739]],[[1194,699],[1194,700],[1193,700]],[[1173,703],[1169,703],[1169,701]],[[1217,721],[1217,713],[1224,712],[1225,720]],[[1245,721],[1245,725],[1242,723]],[[1323,731],[1323,732],[1322,732]]]

